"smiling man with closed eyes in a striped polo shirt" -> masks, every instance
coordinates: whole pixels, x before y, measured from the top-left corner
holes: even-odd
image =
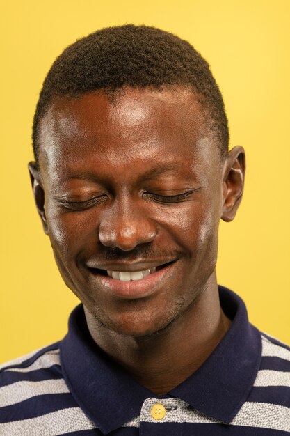
[[[290,350],[216,281],[245,173],[227,147],[223,99],[188,42],[127,25],[56,59],[29,171],[82,304],[63,341],[1,367],[1,435],[290,433]]]

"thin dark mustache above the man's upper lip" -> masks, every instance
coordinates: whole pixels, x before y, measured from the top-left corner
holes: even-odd
[[[100,263],[114,262],[118,260],[127,260],[129,262],[134,262],[135,260],[152,260],[152,259],[162,259],[162,258],[179,258],[182,255],[182,251],[176,249],[154,249],[148,246],[138,246],[134,249],[124,251],[118,247],[103,247],[102,252],[97,256],[97,260]]]

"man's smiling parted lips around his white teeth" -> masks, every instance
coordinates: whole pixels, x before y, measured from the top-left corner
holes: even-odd
[[[160,263],[159,266],[160,265],[164,265],[164,263]],[[160,289],[164,277],[166,277],[166,274],[169,273],[169,270],[172,268],[173,265],[175,265],[175,261],[171,260],[171,263],[161,268],[161,270],[156,270],[155,272],[152,272],[149,276],[134,281],[121,281],[118,279],[113,279],[109,276],[98,274],[97,272],[93,272],[90,269],[89,271],[97,287],[105,289],[106,293],[108,293],[112,297],[118,299],[140,299],[140,298],[150,297],[150,295],[153,295]],[[111,266],[112,265],[110,265],[110,267]],[[129,265],[126,265],[126,267],[128,266]],[[134,266],[136,266],[136,264]],[[138,268],[140,268],[140,270],[150,269],[148,267],[144,268],[143,266],[144,264],[138,263]],[[156,263],[154,264],[154,266],[156,266]],[[118,268],[120,267],[121,265],[119,264]],[[122,271],[118,269],[115,270]],[[126,269],[126,271],[130,271],[130,272],[140,271],[140,270],[137,270],[136,267],[131,270]]]

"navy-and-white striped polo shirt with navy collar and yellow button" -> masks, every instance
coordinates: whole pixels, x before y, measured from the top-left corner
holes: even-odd
[[[77,306],[63,341],[0,367],[0,435],[289,434],[290,349],[261,334],[242,300],[219,289],[232,325],[198,371],[166,395],[108,358]]]

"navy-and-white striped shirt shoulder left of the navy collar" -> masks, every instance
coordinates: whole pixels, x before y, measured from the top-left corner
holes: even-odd
[[[65,383],[60,345],[0,366],[0,435],[60,435],[95,428]]]

